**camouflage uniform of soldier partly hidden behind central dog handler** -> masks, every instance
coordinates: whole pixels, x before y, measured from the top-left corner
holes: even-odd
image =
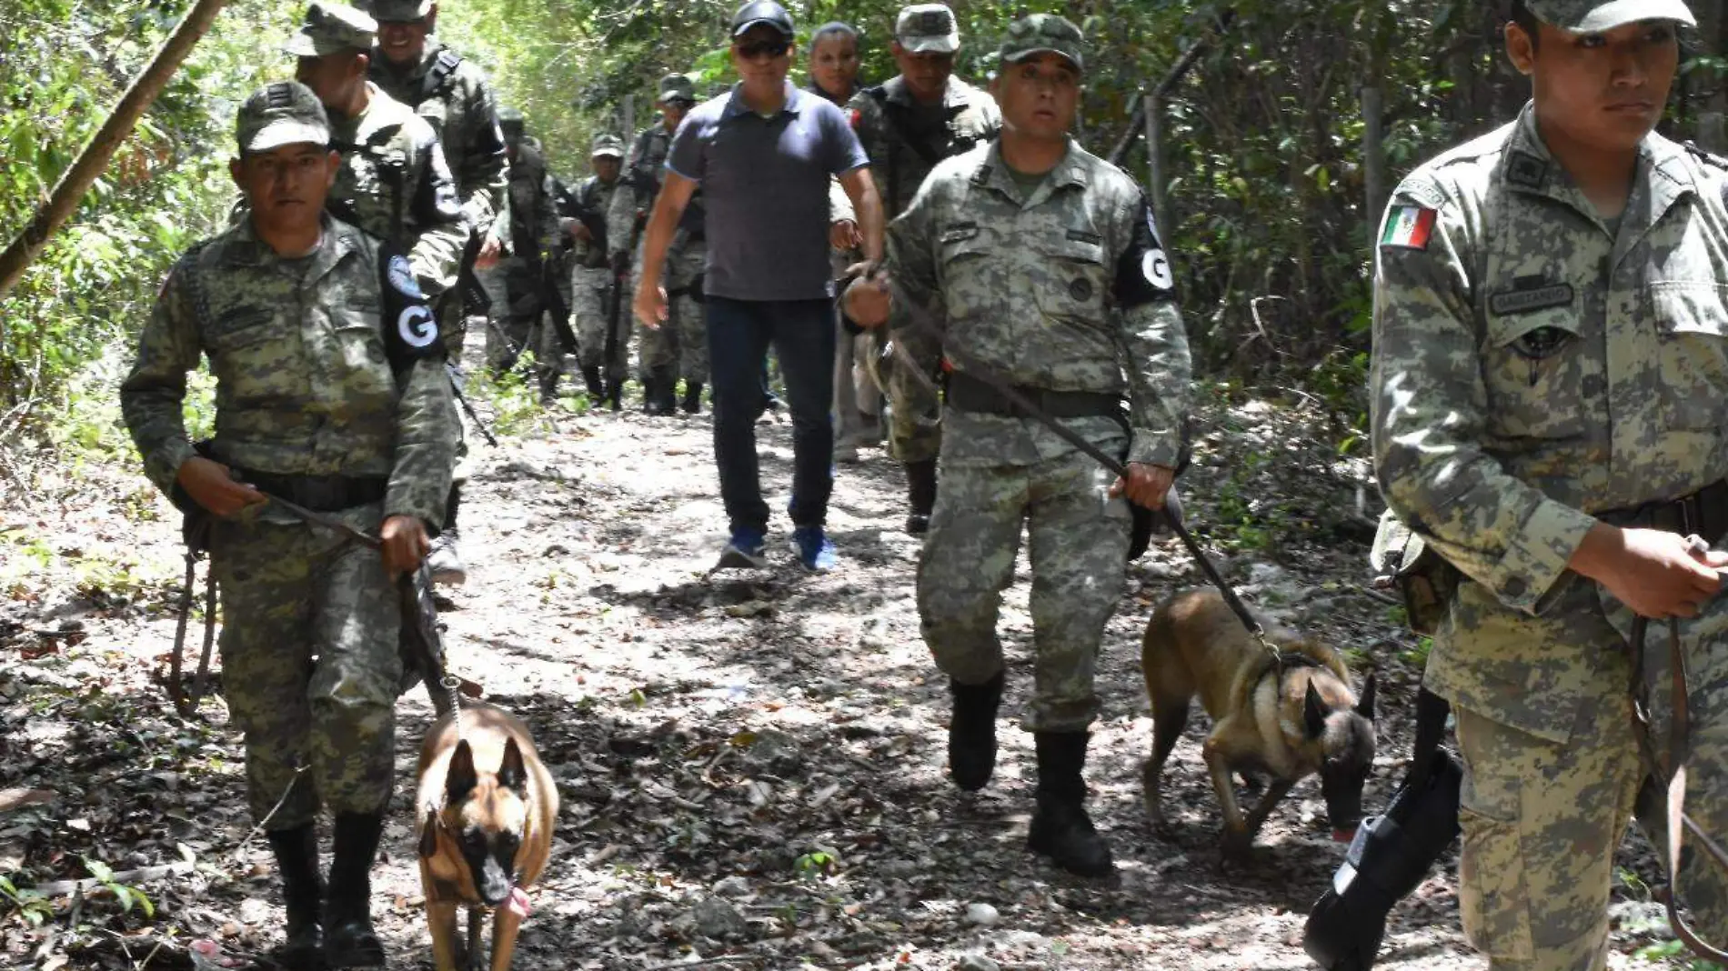
[[[883,85],[864,88],[852,97],[847,109],[852,112],[852,126],[859,133],[859,142],[869,154],[871,178],[876,180],[876,192],[881,195],[886,219],[905,211],[918,187],[938,161],[969,152],[980,142],[995,138],[1002,128],[1002,114],[988,92],[959,78],[949,78],[949,90],[942,97],[943,124],[926,131],[912,130],[911,119],[918,111],[916,98],[899,76]],[[876,332],[874,337],[869,359],[880,366],[886,351],[886,335]],[[914,333],[895,333],[895,339],[905,342],[918,358],[928,358],[931,352],[930,347],[919,346],[919,337]],[[937,458],[942,446],[940,403],[926,382],[918,380],[921,375],[909,375],[905,368],[895,368],[892,363],[888,363],[886,373],[878,370],[876,377],[878,385],[893,404],[888,447],[895,460],[909,463]]]

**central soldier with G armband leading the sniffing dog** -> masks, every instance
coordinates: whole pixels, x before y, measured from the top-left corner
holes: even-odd
[[[1082,765],[1097,715],[1092,672],[1121,596],[1130,511],[1161,508],[1189,403],[1175,280],[1140,188],[1068,138],[1083,40],[1052,14],[1009,26],[992,93],[1002,136],[940,162],[888,230],[880,280],[847,290],[893,339],[930,323],[949,347],[942,491],[918,563],[924,643],[950,679],[949,771],[962,790],[995,767],[1002,698],[997,613],[1030,534],[1037,684],[1025,726],[1039,758],[1028,847],[1071,873],[1111,871],[1085,814]],[[911,306],[907,306],[911,304]],[[918,365],[937,370],[940,347]],[[1113,477],[969,368],[1007,380],[1073,432],[1123,456]]]

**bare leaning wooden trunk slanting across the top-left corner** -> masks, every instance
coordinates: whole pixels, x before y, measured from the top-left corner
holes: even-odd
[[[180,26],[175,28],[175,33],[162,43],[162,48],[150,59],[150,64],[138,74],[138,79],[131,83],[131,88],[121,95],[119,104],[109,112],[102,128],[90,136],[85,150],[60,175],[60,181],[48,194],[48,200],[36,209],[36,216],[5,247],[5,252],[0,252],[0,297],[17,283],[19,276],[29,270],[29,264],[48,245],[48,237],[78,209],[78,202],[90,192],[90,183],[102,175],[109,159],[114,157],[119,145],[131,135],[138,119],[156,102],[156,95],[162,92],[175,76],[175,71],[180,69],[180,64],[192,54],[192,47],[211,28],[211,22],[216,21],[216,14],[221,12],[226,2],[197,0],[185,19],[180,21]]]

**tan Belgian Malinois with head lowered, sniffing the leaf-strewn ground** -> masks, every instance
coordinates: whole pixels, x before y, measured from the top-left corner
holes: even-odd
[[[1374,676],[1362,698],[1329,644],[1265,624],[1279,663],[1260,646],[1215,589],[1184,591],[1146,624],[1140,667],[1153,700],[1153,757],[1146,760],[1146,812],[1163,824],[1159,776],[1199,695],[1211,715],[1201,748],[1223,810],[1223,848],[1242,855],[1298,781],[1320,772],[1334,840],[1362,822],[1362,783],[1374,764]],[[1268,776],[1260,803],[1244,817],[1232,772]]]

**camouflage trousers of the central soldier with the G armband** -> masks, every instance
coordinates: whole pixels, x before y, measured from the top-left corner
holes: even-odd
[[[1099,444],[1120,451],[1123,442]],[[1128,565],[1128,505],[1108,496],[1113,482],[1080,453],[1030,466],[942,461],[918,562],[924,644],[937,667],[962,684],[1002,670],[995,622],[1025,522],[1037,653],[1028,731],[1082,731],[1097,715],[1097,648]]]

